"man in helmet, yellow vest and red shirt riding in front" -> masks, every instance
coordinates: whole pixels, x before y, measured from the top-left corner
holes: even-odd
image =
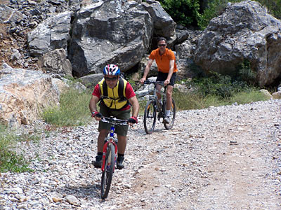
[[[118,119],[128,120],[129,125],[138,123],[139,104],[135,92],[130,83],[120,78],[120,69],[115,64],[106,65],[103,69],[105,75],[103,80],[96,85],[93,90],[90,100],[89,108],[92,117],[100,121],[102,116],[113,116]],[[100,111],[98,111],[96,104],[100,102]],[[133,113],[131,116],[131,106],[133,106]],[[98,124],[98,154],[96,161],[93,162],[95,167],[101,167],[103,159],[103,144],[104,139],[110,132],[110,125],[103,123]],[[128,125],[117,125],[115,133],[118,138],[118,156],[117,168],[123,169],[124,153],[126,149],[126,135],[128,132]]]

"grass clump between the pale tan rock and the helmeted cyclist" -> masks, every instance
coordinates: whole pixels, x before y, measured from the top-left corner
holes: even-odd
[[[48,107],[43,111],[43,119],[46,123],[58,126],[86,125],[91,120],[90,99],[89,90],[79,92],[70,88],[61,95],[60,106]]]

